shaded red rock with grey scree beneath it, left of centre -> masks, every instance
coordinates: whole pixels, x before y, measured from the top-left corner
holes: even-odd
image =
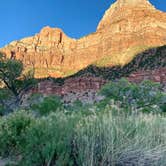
[[[83,76],[77,78],[69,78],[64,81],[63,85],[55,83],[53,80],[40,81],[37,86],[26,91],[22,98],[22,103],[26,103],[27,98],[34,93],[40,93],[45,96],[58,95],[61,96],[65,104],[73,103],[80,100],[83,103],[93,103],[101,99],[97,95],[97,91],[107,83],[101,77]]]

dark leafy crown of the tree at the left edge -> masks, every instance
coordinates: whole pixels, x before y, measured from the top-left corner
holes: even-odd
[[[22,92],[29,88],[34,82],[33,71],[23,74],[23,64],[19,60],[7,59],[0,53],[0,82],[15,98],[15,104],[19,104]],[[2,95],[3,97],[3,95]]]

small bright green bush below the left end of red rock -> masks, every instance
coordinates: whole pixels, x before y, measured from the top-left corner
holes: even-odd
[[[38,96],[38,95],[37,95]],[[58,96],[41,97],[31,104],[31,109],[38,112],[40,115],[48,115],[51,112],[56,112],[62,108],[62,101]]]

